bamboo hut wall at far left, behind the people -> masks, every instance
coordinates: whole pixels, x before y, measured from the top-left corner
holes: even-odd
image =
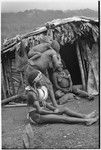
[[[2,57],[2,99],[24,91],[21,73],[17,71],[15,53],[9,52]]]

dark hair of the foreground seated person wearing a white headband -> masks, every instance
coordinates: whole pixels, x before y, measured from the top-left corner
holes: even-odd
[[[33,80],[37,77],[39,74],[39,71],[34,69],[32,72],[29,73],[28,75],[28,83],[32,86],[33,85]]]

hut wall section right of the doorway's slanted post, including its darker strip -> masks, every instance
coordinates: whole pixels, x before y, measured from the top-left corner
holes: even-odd
[[[86,61],[87,92],[96,95],[99,90],[98,43],[93,43],[89,47],[86,41],[82,41],[82,47],[84,49],[83,59]]]

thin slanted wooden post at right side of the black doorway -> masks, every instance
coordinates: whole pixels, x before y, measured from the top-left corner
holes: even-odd
[[[85,75],[84,75],[84,70],[83,70],[83,65],[82,65],[82,59],[81,59],[80,49],[79,49],[78,43],[76,44],[76,51],[77,51],[77,57],[78,57],[80,71],[81,71],[81,79],[82,79],[83,90],[86,90]]]

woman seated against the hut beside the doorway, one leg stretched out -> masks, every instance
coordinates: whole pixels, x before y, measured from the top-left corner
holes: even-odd
[[[77,96],[87,98],[89,100],[93,99],[92,95],[89,95],[87,92],[77,89],[73,86],[71,75],[67,69],[63,69],[63,66],[60,65],[53,72],[52,77],[55,95],[57,98],[64,96],[67,93],[73,93]],[[66,97],[67,96],[67,97]],[[68,94],[65,95],[65,99],[68,98]]]

